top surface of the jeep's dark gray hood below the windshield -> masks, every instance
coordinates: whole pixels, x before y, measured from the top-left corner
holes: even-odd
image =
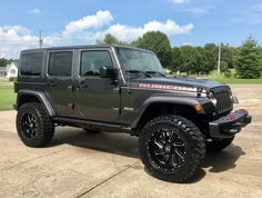
[[[135,79],[134,81],[137,81],[138,83],[148,83],[148,85],[169,85],[169,86],[181,86],[189,88],[203,88],[206,91],[215,87],[226,86],[224,83],[220,83],[213,80],[202,80],[202,79],[181,78],[181,77],[152,77],[152,78]]]

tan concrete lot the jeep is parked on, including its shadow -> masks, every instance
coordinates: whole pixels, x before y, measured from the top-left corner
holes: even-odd
[[[135,137],[63,127],[33,149],[16,133],[16,111],[0,111],[0,197],[262,197],[262,85],[231,87],[253,122],[182,185],[144,171]]]

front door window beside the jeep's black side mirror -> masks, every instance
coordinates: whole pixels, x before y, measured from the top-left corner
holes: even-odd
[[[101,67],[113,68],[109,51],[83,51],[81,55],[80,76],[99,76]]]

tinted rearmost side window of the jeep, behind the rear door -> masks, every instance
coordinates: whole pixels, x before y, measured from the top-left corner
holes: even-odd
[[[42,70],[43,53],[26,53],[21,57],[22,76],[40,76]]]

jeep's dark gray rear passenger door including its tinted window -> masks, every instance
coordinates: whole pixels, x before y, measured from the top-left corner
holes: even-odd
[[[73,113],[73,50],[49,51],[47,93],[58,116]]]

